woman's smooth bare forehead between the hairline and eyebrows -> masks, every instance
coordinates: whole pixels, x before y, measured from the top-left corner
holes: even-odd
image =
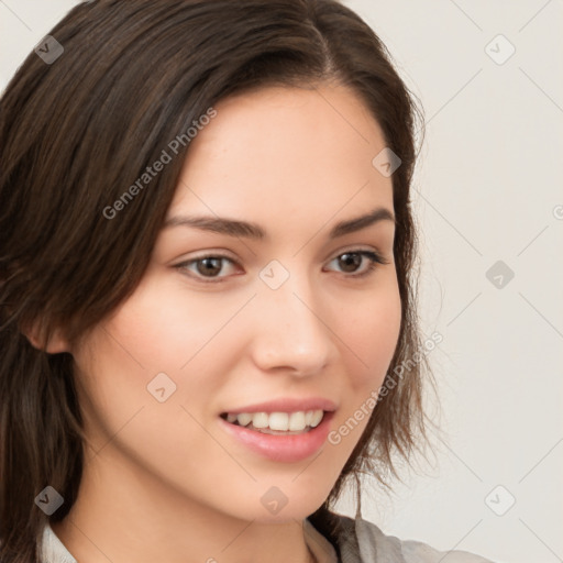
[[[190,142],[169,216],[178,211],[262,219],[305,210],[325,222],[386,205],[391,179],[372,164],[378,123],[342,86],[271,87],[221,100]],[[249,217],[253,216],[253,217]],[[261,221],[263,222],[263,221]]]

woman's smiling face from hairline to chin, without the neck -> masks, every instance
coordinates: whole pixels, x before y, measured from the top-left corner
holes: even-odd
[[[119,470],[166,487],[169,501],[236,518],[302,519],[358,442],[397,344],[391,179],[372,164],[385,142],[343,87],[267,88],[214,109],[143,279],[71,350],[97,452],[86,471]],[[378,220],[331,236],[377,210]],[[264,236],[188,224],[200,216]],[[362,252],[385,263],[369,269]],[[313,402],[251,408],[283,399]],[[331,406],[310,435],[221,418],[282,412],[297,428],[305,417],[295,412]]]

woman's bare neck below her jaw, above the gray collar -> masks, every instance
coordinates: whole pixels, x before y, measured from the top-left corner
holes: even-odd
[[[302,520],[264,523],[213,510],[162,479],[128,474],[109,462],[109,450],[103,463],[93,457],[86,465],[76,503],[52,525],[77,561],[317,563]]]

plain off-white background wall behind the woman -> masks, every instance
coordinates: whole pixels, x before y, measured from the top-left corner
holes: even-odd
[[[0,88],[75,3],[0,0]],[[345,3],[426,111],[421,317],[443,336],[429,355],[444,430],[435,457],[390,497],[366,482],[363,516],[442,550],[563,561],[563,2]],[[486,277],[497,261],[515,274],[493,279],[500,288]],[[353,515],[351,498],[339,508]]]

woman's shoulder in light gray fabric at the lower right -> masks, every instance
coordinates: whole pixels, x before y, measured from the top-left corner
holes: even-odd
[[[420,541],[386,536],[376,525],[360,517],[335,516],[340,520],[338,543],[342,563],[493,563],[466,551],[438,551]]]

